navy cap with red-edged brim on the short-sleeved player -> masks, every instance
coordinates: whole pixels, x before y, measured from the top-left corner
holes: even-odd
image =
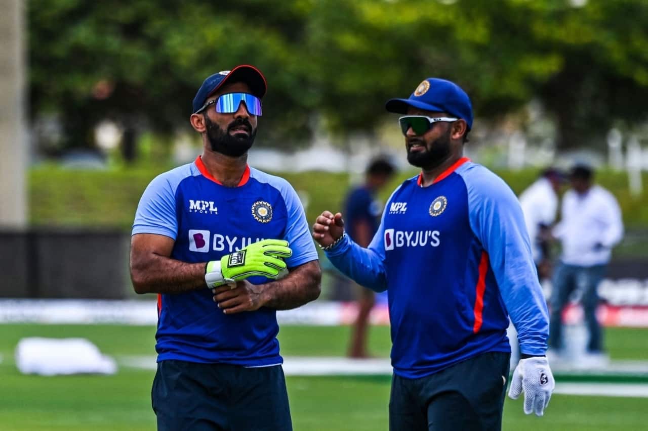
[[[259,69],[248,64],[242,64],[231,71],[222,71],[208,76],[200,85],[198,93],[194,97],[193,112],[195,113],[202,108],[205,100],[227,82],[245,82],[249,85],[251,93],[258,98],[262,98],[268,89],[266,77],[263,76]]]

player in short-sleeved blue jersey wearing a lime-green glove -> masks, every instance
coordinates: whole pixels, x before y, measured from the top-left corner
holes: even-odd
[[[158,430],[292,429],[276,310],[316,299],[321,272],[295,190],[247,164],[265,93],[252,66],[206,78],[191,115],[202,155],[137,207],[130,269],[137,293],[158,294]]]

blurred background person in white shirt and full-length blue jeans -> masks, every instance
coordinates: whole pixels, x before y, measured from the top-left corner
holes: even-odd
[[[589,333],[583,363],[603,365],[607,357],[596,318],[597,288],[612,256],[612,247],[623,238],[621,208],[612,193],[594,184],[591,166],[573,166],[570,183],[570,190],[562,197],[561,221],[553,229],[553,236],[561,241],[562,254],[553,274],[550,354],[560,357],[562,353],[562,311],[572,293],[579,291]]]

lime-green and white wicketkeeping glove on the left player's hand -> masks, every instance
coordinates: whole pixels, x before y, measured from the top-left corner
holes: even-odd
[[[237,252],[213,260],[205,268],[205,282],[210,289],[251,276],[277,278],[286,269],[282,258],[290,258],[292,250],[283,239],[264,239]]]

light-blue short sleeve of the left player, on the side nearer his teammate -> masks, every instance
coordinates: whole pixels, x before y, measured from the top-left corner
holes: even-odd
[[[290,182],[255,168],[250,168],[249,176],[250,181],[272,186],[283,198],[288,217],[283,239],[288,241],[289,247],[292,249],[292,256],[286,259],[288,268],[318,260],[318,252],[310,236],[310,227],[308,226],[304,207]]]

